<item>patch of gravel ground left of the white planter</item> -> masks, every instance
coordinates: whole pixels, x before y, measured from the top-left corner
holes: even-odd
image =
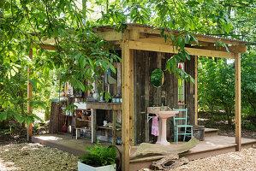
[[[78,157],[41,144],[0,145],[0,170],[77,170]]]

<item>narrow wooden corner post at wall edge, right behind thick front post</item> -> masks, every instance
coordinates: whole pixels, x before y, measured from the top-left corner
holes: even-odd
[[[129,116],[129,121],[130,121],[130,140],[129,144],[134,145],[134,50],[129,50],[130,54],[130,116]]]

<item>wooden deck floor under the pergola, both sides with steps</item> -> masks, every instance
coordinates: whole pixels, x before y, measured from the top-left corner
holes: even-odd
[[[91,139],[72,139],[71,135],[63,134],[46,134],[33,136],[34,143],[45,144],[59,150],[64,150],[76,156],[84,154],[85,147],[91,147]],[[181,142],[182,143],[182,142]],[[102,145],[110,145],[110,143],[101,142]],[[241,139],[242,148],[250,148],[256,145],[256,139]],[[176,144],[173,144],[173,148]],[[121,148],[121,147],[120,147]],[[132,149],[132,153],[136,148]],[[235,137],[226,136],[209,136],[204,141],[200,141],[193,149],[182,153],[180,156],[186,156],[189,160],[204,158],[207,156],[216,156],[219,154],[235,151]],[[148,168],[152,161],[156,161],[163,156],[151,156],[130,161],[130,170],[138,170],[140,168]]]

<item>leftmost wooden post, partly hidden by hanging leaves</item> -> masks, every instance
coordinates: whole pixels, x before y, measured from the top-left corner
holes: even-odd
[[[30,50],[29,50],[29,58],[33,60],[33,49],[32,49],[32,44],[30,44]],[[31,68],[27,68],[27,79],[29,79],[31,74]],[[27,101],[27,113],[30,113],[32,111],[32,107],[30,105],[30,101],[32,101],[32,84],[29,80],[27,80],[27,98],[29,99]],[[27,141],[31,142],[32,139],[32,123],[30,123],[27,126]]]

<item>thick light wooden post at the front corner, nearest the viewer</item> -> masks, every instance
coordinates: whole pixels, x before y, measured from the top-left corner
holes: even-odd
[[[129,170],[130,58],[128,30],[125,30],[122,39],[122,171]]]

